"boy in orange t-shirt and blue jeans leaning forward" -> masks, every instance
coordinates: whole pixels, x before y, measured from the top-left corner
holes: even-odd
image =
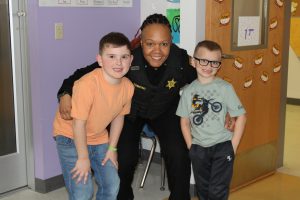
[[[73,120],[64,120],[56,113],[54,137],[69,199],[92,199],[91,168],[99,187],[96,199],[117,197],[120,180],[116,146],[134,91],[124,77],[132,58],[126,36],[116,32],[105,35],[97,55],[102,68],[83,76],[73,87]]]

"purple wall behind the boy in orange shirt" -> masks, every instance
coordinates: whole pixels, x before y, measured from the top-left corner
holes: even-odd
[[[64,25],[63,40],[54,39],[54,23]],[[119,31],[132,39],[140,26],[140,1],[131,8],[39,7],[28,1],[29,68],[31,76],[35,177],[61,174],[52,122],[56,92],[64,78],[95,61],[99,39]]]

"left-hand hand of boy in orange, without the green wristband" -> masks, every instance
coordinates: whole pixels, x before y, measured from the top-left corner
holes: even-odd
[[[83,180],[83,184],[86,184],[90,172],[90,160],[88,158],[78,159],[76,161],[75,167],[71,171],[71,173],[73,174],[72,179],[76,179],[76,183],[79,183]]]

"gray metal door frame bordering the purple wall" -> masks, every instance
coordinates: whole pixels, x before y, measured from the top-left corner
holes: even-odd
[[[9,0],[9,4],[12,1]],[[18,116],[17,123],[24,125],[24,142],[25,142],[25,159],[26,159],[26,173],[27,173],[27,187],[35,190],[35,176],[34,176],[34,145],[33,145],[33,131],[32,131],[32,106],[31,106],[31,87],[30,87],[30,70],[29,70],[29,54],[28,54],[28,18],[27,18],[27,0],[18,0],[17,13],[10,8],[10,20],[19,16],[19,32],[20,32],[20,46],[18,55],[20,56],[21,73],[20,83],[17,84],[21,92],[16,92],[17,103],[22,101],[22,115]],[[19,14],[18,14],[19,12]],[[21,13],[21,14],[20,14]],[[23,13],[23,14],[22,14]],[[12,28],[12,27],[11,27]],[[18,78],[18,77],[17,77]],[[16,86],[17,87],[17,86]],[[21,99],[21,100],[20,100]],[[17,124],[19,125],[19,124]]]

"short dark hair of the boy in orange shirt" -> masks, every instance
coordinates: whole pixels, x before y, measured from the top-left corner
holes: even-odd
[[[99,54],[101,54],[105,47],[109,46],[126,46],[129,50],[131,49],[129,39],[123,33],[119,32],[110,32],[101,38],[99,42]]]

